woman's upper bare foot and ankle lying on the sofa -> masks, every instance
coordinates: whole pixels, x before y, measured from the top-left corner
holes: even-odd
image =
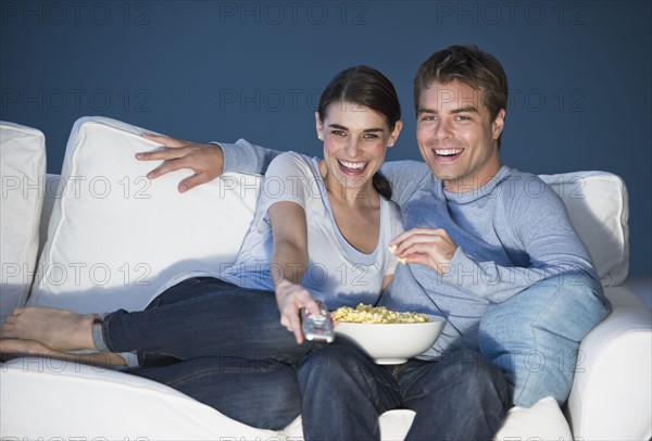
[[[34,340],[51,350],[63,352],[93,350],[93,317],[95,314],[77,314],[52,307],[20,307],[2,325],[0,338]]]

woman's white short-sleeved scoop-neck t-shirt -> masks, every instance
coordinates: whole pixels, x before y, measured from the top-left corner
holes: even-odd
[[[286,152],[272,161],[265,174],[255,217],[236,263],[222,274],[231,284],[274,291],[269,272],[273,250],[268,209],[276,202],[300,204],[306,215],[309,266],[302,286],[329,308],[375,304],[385,276],[397,266],[389,241],[402,230],[398,206],[380,198],[380,232],[376,249],[362,253],[337,228],[318,160]]]

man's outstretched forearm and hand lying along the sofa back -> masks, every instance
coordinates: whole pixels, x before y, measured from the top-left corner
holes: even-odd
[[[280,152],[252,144],[244,139],[236,143],[199,143],[159,135],[143,135],[161,143],[162,149],[136,154],[140,161],[163,161],[147,177],[155,179],[170,172],[189,168],[195,174],[179,182],[179,192],[209,182],[223,173],[263,174]]]

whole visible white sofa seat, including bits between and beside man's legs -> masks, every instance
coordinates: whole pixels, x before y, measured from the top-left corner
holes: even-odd
[[[15,358],[2,366],[0,378],[2,436],[7,438],[279,441],[303,438],[300,417],[284,431],[256,429],[167,386],[93,366]],[[101,411],[89,405],[89,391],[101,399]],[[65,406],[60,405],[61,396],[66,398]],[[413,419],[414,412],[409,410],[383,414],[381,441],[404,439]],[[497,439],[569,440],[570,432],[556,402],[543,399],[530,408],[511,410]]]

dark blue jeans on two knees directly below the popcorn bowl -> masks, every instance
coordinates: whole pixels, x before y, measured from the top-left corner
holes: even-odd
[[[378,416],[392,408],[416,412],[406,440],[490,440],[511,406],[500,368],[467,350],[383,366],[331,343],[304,358],[298,378],[306,441],[378,440]]]

